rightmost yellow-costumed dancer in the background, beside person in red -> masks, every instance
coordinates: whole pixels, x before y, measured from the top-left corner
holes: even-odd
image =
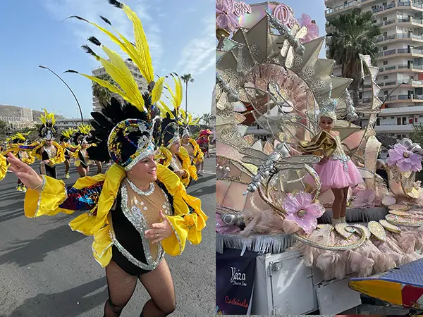
[[[192,120],[192,114],[183,111],[183,109],[180,109],[180,112],[182,113],[182,118],[179,121],[180,128],[180,145],[188,152],[188,155],[191,159],[191,164],[195,165],[195,168],[199,168],[200,164],[204,160],[204,154],[200,149],[200,146],[198,145],[197,141],[195,139],[192,139],[191,137],[191,131],[190,126],[199,126],[197,125],[197,120]],[[201,176],[200,173],[197,173],[197,175]]]

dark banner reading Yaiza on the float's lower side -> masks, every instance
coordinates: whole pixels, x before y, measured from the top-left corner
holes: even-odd
[[[216,313],[247,315],[252,300],[257,253],[225,249],[216,253]]]

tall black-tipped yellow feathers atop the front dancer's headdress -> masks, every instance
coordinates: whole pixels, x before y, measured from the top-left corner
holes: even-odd
[[[161,98],[161,92],[163,90],[163,83],[164,77],[160,77],[157,82],[154,82],[154,69],[152,66],[152,58],[149,53],[149,46],[147,43],[147,37],[145,36],[144,28],[142,27],[141,20],[137,17],[135,12],[133,12],[128,6],[125,4],[121,4],[118,1],[109,0],[109,3],[117,8],[123,9],[128,18],[133,23],[134,35],[135,35],[135,44],[130,42],[126,39],[120,32],[116,29],[117,36],[114,35],[113,32],[106,30],[104,27],[97,25],[96,23],[92,23],[84,18],[79,16],[73,15],[70,18],[77,18],[78,20],[85,21],[86,23],[90,23],[97,29],[101,30],[104,34],[106,34],[112,42],[118,44],[125,54],[129,56],[129,58],[135,63],[137,68],[140,70],[140,73],[148,82],[149,93],[152,97],[152,104],[156,104],[157,101]],[[102,20],[113,27],[110,20],[100,16]],[[114,28],[114,27],[113,27]],[[102,66],[106,70],[106,73],[110,75],[112,80],[116,82],[117,85],[112,84],[106,80],[101,80],[98,77],[94,77],[91,75],[86,75],[80,73],[80,75],[87,77],[88,79],[92,80],[93,82],[97,82],[98,85],[109,89],[112,93],[118,94],[121,96],[125,101],[128,101],[133,106],[137,107],[140,111],[148,111],[149,109],[145,109],[145,101],[142,98],[142,94],[140,89],[138,88],[137,82],[133,77],[130,69],[126,65],[123,58],[117,54],[115,51],[112,51],[108,47],[104,46],[96,37],[90,37],[88,39],[92,44],[99,46],[104,53],[108,56],[108,60],[102,58],[95,54],[95,52],[90,48],[90,46],[84,45],[82,46],[88,54],[94,56]],[[67,70],[68,73],[78,73],[75,70]]]

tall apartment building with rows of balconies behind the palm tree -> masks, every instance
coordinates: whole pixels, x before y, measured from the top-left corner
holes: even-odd
[[[326,0],[325,4],[327,21],[353,8],[372,11],[373,23],[382,32],[376,39],[381,49],[376,82],[381,87],[379,98],[384,101],[375,130],[398,138],[409,136],[413,123],[423,123],[423,0]],[[326,32],[331,32],[327,23]],[[330,37],[326,44],[330,46]],[[333,73],[341,75],[341,68],[336,67]],[[360,103],[369,103],[371,96],[365,81]],[[367,123],[362,118],[361,124]]]

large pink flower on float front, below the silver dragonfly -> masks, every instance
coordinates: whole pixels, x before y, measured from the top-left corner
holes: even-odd
[[[307,192],[298,192],[295,196],[288,194],[282,208],[288,213],[286,219],[295,222],[307,234],[317,228],[317,218],[324,213],[324,207],[312,204],[312,195]]]

